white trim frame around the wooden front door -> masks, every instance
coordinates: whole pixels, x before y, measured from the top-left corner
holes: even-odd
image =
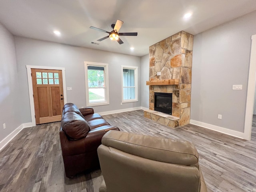
[[[61,70],[62,71],[62,86],[63,86],[63,94],[64,94],[64,104],[67,103],[67,94],[66,94],[66,77],[65,77],[65,68],[63,67],[49,67],[49,66],[34,66],[34,65],[26,65],[27,68],[27,76],[28,76],[28,94],[30,101],[30,112],[31,112],[31,121],[32,126],[36,126],[36,119],[33,118],[35,116],[35,107],[34,107],[34,97],[33,97],[33,84],[31,78],[31,69],[50,69],[50,70]]]

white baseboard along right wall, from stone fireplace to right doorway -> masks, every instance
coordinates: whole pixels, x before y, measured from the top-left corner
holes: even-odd
[[[246,135],[242,132],[238,132],[238,131],[230,130],[230,129],[227,129],[227,128],[211,125],[211,124],[208,124],[208,123],[203,123],[203,122],[192,120],[192,119],[190,119],[190,124],[197,125],[197,126],[200,126],[200,127],[204,127],[206,129],[214,130],[214,131],[217,131],[217,132],[220,132],[220,133],[223,133],[223,134],[227,134],[227,135],[230,135],[230,136],[234,136],[234,137],[237,137],[237,138],[248,140]]]

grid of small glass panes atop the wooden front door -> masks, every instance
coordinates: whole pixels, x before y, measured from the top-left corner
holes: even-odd
[[[59,74],[53,72],[36,72],[36,84],[60,84]]]

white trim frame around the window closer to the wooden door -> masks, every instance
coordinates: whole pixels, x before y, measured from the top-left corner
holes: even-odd
[[[88,66],[100,66],[104,67],[104,85],[106,90],[104,102],[94,102],[89,103],[89,87],[88,87]],[[109,85],[108,85],[108,64],[107,63],[96,63],[96,62],[84,62],[84,76],[85,76],[85,89],[86,89],[86,106],[99,106],[99,105],[108,105],[109,104]]]

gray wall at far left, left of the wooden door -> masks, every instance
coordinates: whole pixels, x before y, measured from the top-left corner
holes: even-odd
[[[0,141],[22,124],[14,37],[0,24]],[[6,129],[3,129],[3,124]]]

